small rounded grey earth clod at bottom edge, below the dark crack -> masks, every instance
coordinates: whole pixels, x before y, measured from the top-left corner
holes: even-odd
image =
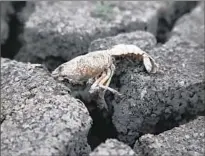
[[[116,140],[107,139],[105,143],[100,144],[90,156],[137,156],[128,145]]]

